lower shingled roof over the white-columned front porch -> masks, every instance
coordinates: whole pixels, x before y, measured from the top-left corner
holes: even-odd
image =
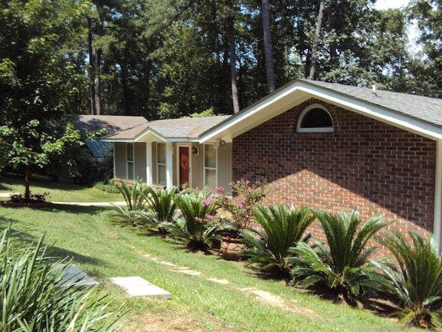
[[[130,129],[117,131],[105,136],[102,140],[116,142],[137,142],[162,140],[164,142],[193,142],[216,124],[230,116],[210,116],[204,118],[178,118],[154,120]]]

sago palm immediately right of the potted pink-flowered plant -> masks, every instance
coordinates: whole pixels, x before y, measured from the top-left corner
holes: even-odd
[[[302,240],[314,216],[307,207],[291,206],[287,210],[284,204],[268,209],[259,205],[252,210],[260,227],[241,232],[244,243],[251,247],[242,254],[249,257],[248,264],[258,264],[260,270],[271,270],[288,278],[287,257],[292,255],[289,248]]]

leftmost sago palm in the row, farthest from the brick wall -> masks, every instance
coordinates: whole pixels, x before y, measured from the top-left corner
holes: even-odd
[[[113,204],[115,210],[117,210],[119,216],[126,223],[133,224],[137,218],[135,212],[144,210],[144,206],[146,205],[147,187],[142,183],[140,178],[137,178],[133,184],[120,181],[116,186],[119,192],[123,195],[124,201],[126,201],[126,207]]]

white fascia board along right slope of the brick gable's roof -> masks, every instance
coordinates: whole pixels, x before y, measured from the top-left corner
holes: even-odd
[[[323,89],[314,86],[302,87],[300,90],[310,93],[314,98],[342,106],[344,109],[350,109],[355,113],[374,118],[375,120],[385,122],[394,127],[404,129],[405,131],[416,133],[425,138],[430,138],[431,140],[440,140],[442,138],[442,129],[438,126],[410,116],[405,116],[396,111],[390,111],[374,104],[367,106],[367,102],[347,97],[346,95],[325,93]]]

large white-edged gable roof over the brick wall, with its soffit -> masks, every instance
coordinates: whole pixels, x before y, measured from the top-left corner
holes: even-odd
[[[442,139],[442,100],[358,86],[295,80],[202,133],[200,142],[231,140],[316,98],[431,139]]]

